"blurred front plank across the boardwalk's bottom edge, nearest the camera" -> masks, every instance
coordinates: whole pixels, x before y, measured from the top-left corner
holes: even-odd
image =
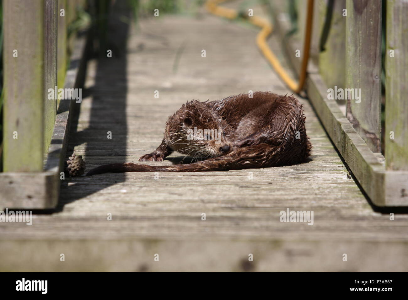
[[[35,220],[33,222],[35,224]],[[197,238],[188,240],[180,238],[50,240],[44,238],[2,240],[0,256],[7,259],[0,260],[0,270],[404,272],[408,264],[407,251],[406,243],[378,241],[211,240],[201,237],[200,240]],[[65,257],[65,261],[62,262],[61,253],[64,253]],[[158,261],[154,260],[156,253]],[[253,261],[248,261],[249,253],[253,254]],[[342,260],[343,253],[347,254],[346,262]]]

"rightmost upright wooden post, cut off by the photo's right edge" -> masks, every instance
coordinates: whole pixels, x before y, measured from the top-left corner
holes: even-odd
[[[408,2],[387,1],[385,157],[408,171]]]

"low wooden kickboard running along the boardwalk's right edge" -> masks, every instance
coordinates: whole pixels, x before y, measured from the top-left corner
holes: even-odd
[[[277,6],[274,6],[272,11],[279,15]],[[277,22],[275,28],[281,36],[287,30],[282,22]],[[294,49],[297,49],[295,47],[295,41],[287,43],[286,52],[292,53]],[[291,56],[289,58],[298,70],[300,63],[296,64],[296,60]],[[344,118],[335,100],[328,99],[327,87],[322,76],[309,74],[306,91],[328,135],[371,201],[377,206],[407,206],[408,197],[401,197],[405,195],[405,192],[402,191],[405,189],[404,180],[407,178],[405,173],[399,174],[402,176],[399,180],[393,179],[394,176],[388,172],[386,174],[383,159],[378,152],[373,153],[367,147],[350,122]]]

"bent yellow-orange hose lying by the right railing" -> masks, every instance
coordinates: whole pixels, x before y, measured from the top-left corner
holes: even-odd
[[[229,9],[226,7],[220,7],[217,4],[224,2],[225,0],[208,0],[206,2],[206,8],[208,11],[213,13],[216,16],[228,18],[228,19],[235,19],[239,16],[238,12],[235,9]],[[273,30],[272,24],[265,20],[264,18],[253,16],[246,18],[252,24],[261,27],[261,31],[259,31],[256,43],[259,49],[262,51],[262,54],[268,60],[268,62],[272,65],[273,69],[275,69],[276,73],[282,78],[282,80],[288,85],[288,87],[294,91],[295,93],[299,93],[302,91],[304,82],[306,80],[306,69],[309,59],[309,50],[310,50],[310,39],[311,39],[311,31],[312,31],[312,20],[313,20],[313,0],[308,0],[308,7],[307,7],[307,18],[306,18],[306,37],[304,40],[304,53],[303,53],[303,60],[302,60],[302,67],[300,70],[299,82],[293,80],[288,73],[284,70],[282,65],[279,63],[279,60],[276,58],[275,54],[273,54],[272,50],[269,48],[268,44],[266,43],[266,39],[271,34]]]

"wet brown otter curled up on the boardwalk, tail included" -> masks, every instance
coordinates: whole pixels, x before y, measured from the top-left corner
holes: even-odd
[[[255,92],[222,100],[183,104],[166,122],[155,151],[139,161],[163,161],[173,151],[205,158],[189,164],[105,164],[86,175],[107,172],[227,171],[305,162],[311,153],[302,104],[292,96]]]

